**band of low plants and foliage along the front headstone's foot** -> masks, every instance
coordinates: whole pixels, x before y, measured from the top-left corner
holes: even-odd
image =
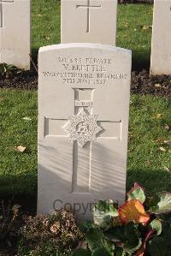
[[[68,211],[25,215],[23,223],[19,209],[20,205],[0,206],[1,255],[171,255],[171,193],[146,198],[144,189],[135,183],[122,205],[113,200],[99,201],[93,208],[93,223],[81,223],[80,229]]]

